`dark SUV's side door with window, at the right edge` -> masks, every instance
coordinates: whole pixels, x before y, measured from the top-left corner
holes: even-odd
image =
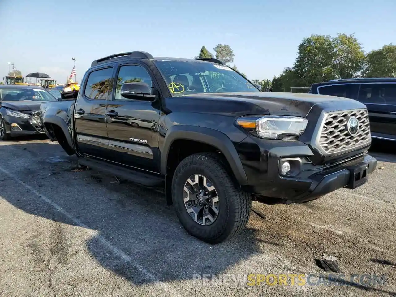
[[[360,84],[357,100],[367,106],[371,136],[396,140],[396,83]]]

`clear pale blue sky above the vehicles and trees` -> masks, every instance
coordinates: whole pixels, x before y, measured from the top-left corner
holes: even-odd
[[[312,33],[354,33],[365,51],[395,44],[395,13],[395,0],[0,0],[0,75],[13,62],[23,76],[64,83],[76,57],[80,81],[91,61],[113,53],[192,58],[221,43],[248,78],[272,79]]]

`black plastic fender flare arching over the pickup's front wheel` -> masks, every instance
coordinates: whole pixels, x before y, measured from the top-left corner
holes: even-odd
[[[223,153],[240,185],[247,185],[247,176],[238,152],[224,133],[205,127],[175,125],[166,133],[161,154],[161,173],[166,175],[169,149],[178,139],[198,141],[211,145]]]

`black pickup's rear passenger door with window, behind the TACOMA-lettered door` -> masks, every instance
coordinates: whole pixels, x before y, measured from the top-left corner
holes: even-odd
[[[106,158],[107,139],[106,106],[109,85],[114,67],[93,70],[88,75],[85,88],[79,91],[74,119],[79,150],[90,156]],[[82,86],[83,87],[83,86]]]

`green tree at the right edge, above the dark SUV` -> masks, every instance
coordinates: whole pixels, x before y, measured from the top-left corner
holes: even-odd
[[[396,77],[396,45],[388,44],[367,53],[366,77]]]

